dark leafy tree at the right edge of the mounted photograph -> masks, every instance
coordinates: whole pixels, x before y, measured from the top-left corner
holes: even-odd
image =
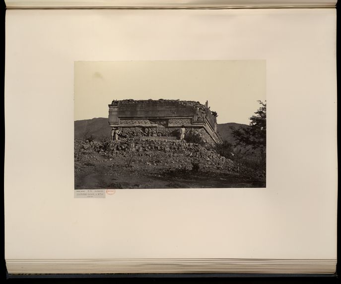
[[[250,117],[250,126],[231,129],[237,144],[259,150],[263,156],[267,143],[267,104],[258,102],[261,107]]]

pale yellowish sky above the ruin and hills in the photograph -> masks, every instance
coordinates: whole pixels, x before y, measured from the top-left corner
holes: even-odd
[[[74,120],[108,117],[112,100],[199,101],[217,122],[249,124],[266,100],[265,60],[76,61]]]

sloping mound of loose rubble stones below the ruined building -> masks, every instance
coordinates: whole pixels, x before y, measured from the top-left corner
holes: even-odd
[[[118,141],[82,141],[75,140],[75,161],[81,157],[81,163],[102,161],[131,160],[129,167],[136,164],[157,166],[158,172],[190,173],[226,172],[262,177],[264,174],[251,170],[234,161],[220,156],[213,148],[186,140],[167,139],[122,139]],[[128,162],[127,162],[128,163]],[[135,165],[134,165],[135,163]]]

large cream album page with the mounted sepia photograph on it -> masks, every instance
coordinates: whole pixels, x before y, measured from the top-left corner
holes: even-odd
[[[335,9],[9,9],[5,44],[6,261],[336,263]]]

